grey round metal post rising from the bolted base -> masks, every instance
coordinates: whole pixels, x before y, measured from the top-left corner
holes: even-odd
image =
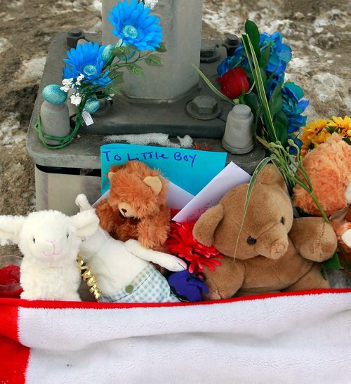
[[[107,20],[108,11],[117,3],[118,0],[102,1],[102,44],[116,44],[119,39],[112,34],[112,25]],[[176,100],[199,82],[192,63],[199,67],[202,0],[159,0],[152,12],[161,20],[168,50],[162,54],[163,67],[141,64],[146,77],[126,73],[123,91],[129,98]]]

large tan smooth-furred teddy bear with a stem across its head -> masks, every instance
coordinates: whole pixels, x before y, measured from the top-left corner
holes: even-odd
[[[256,180],[240,231],[247,189],[234,187],[194,225],[195,239],[227,256],[213,272],[204,267],[204,298],[329,288],[319,262],[336,250],[333,228],[322,218],[293,218],[284,180],[270,164]]]

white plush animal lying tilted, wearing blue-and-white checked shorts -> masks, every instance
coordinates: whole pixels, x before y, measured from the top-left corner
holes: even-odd
[[[81,211],[95,214],[84,194],[76,204]],[[91,237],[81,242],[79,255],[84,258],[95,275],[102,291],[100,302],[164,303],[178,302],[171,294],[168,282],[149,262],[177,272],[187,268],[175,256],[144,248],[137,240],[126,242],[113,239],[99,227]]]

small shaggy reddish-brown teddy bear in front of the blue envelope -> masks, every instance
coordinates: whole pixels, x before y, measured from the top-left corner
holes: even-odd
[[[115,239],[137,239],[146,248],[164,251],[171,220],[167,180],[141,161],[114,166],[108,177],[110,197],[96,206],[101,227]]]

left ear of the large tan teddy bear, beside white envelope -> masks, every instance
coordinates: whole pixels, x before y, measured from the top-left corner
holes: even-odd
[[[223,219],[224,207],[221,204],[209,208],[194,225],[192,235],[197,241],[206,246],[213,245],[214,233]]]

